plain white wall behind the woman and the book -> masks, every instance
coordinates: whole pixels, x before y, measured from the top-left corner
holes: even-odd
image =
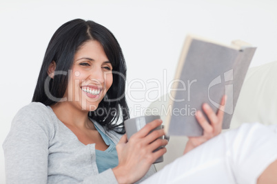
[[[222,43],[234,39],[252,43],[258,47],[252,66],[276,60],[276,8],[276,0],[0,0],[0,143],[8,134],[12,117],[30,103],[48,42],[66,21],[90,19],[110,29],[125,54],[128,81],[141,79],[146,82],[146,91],[156,87],[147,80],[161,81],[161,93],[147,95],[155,100],[174,78],[187,33]],[[132,87],[141,86],[133,83]],[[134,105],[147,107],[150,100],[135,102],[134,97],[145,97],[145,91],[131,95],[127,95],[131,115],[141,115]],[[0,183],[5,183],[4,173],[1,149]]]

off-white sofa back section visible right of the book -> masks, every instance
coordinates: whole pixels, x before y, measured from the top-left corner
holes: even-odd
[[[247,72],[230,127],[243,122],[277,124],[277,61]]]

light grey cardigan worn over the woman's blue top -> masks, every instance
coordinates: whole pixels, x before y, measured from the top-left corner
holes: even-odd
[[[103,127],[94,121],[94,125]],[[119,142],[114,131],[106,135]],[[3,142],[6,183],[117,183],[112,169],[99,174],[95,144],[85,146],[50,106],[32,102],[21,108]],[[156,172],[154,165],[143,177]],[[143,181],[141,179],[141,181]]]

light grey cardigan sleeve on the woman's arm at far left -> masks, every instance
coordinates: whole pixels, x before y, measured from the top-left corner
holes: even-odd
[[[34,115],[21,109],[3,143],[6,183],[47,183],[48,135]]]

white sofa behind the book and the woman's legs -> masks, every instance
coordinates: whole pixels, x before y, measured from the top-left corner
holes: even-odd
[[[159,108],[166,104],[167,102],[157,100],[149,107]],[[165,117],[161,116],[161,119]],[[277,61],[250,68],[247,72],[230,128],[236,128],[243,122],[277,124]],[[164,161],[157,163],[156,169],[161,170],[164,165],[180,157],[186,141],[187,137],[170,137]]]

